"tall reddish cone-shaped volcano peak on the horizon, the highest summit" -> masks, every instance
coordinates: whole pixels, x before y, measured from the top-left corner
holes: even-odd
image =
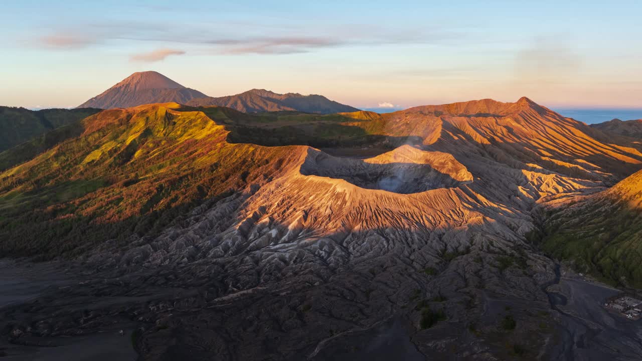
[[[206,95],[155,71],[134,73],[78,108],[127,108],[149,103],[187,103]]]

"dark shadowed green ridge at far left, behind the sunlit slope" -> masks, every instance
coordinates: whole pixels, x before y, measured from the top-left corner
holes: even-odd
[[[43,109],[0,107],[0,152],[96,114],[100,109]]]

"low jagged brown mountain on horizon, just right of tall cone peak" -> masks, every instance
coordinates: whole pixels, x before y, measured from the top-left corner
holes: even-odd
[[[277,94],[265,89],[252,89],[241,94],[221,96],[220,98],[200,98],[187,102],[187,105],[209,106],[218,105],[229,107],[246,113],[296,111],[306,113],[331,114],[340,112],[356,112],[359,109],[343,105],[325,96],[310,94],[302,95],[295,92]]]

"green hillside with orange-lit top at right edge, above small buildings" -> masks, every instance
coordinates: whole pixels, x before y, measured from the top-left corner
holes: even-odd
[[[542,248],[613,285],[642,288],[642,182],[634,179],[639,173],[550,215]]]

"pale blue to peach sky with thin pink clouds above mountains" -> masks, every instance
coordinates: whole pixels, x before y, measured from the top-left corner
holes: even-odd
[[[135,71],[209,96],[360,108],[521,96],[642,108],[641,1],[3,0],[0,105],[75,107]]]

